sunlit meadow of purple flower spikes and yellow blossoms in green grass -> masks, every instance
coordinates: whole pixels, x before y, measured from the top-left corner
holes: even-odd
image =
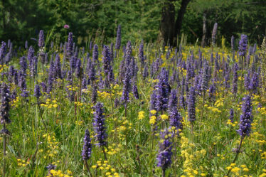
[[[1,176],[266,176],[265,41],[122,46],[120,31],[1,43]]]

